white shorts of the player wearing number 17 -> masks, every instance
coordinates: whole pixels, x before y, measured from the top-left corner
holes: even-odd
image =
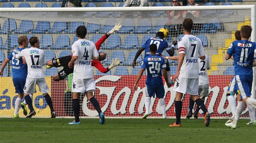
[[[46,78],[26,78],[26,84],[24,87],[24,93],[32,94],[37,93],[36,84],[39,87],[39,91],[43,94],[49,93],[50,89],[46,84]]]

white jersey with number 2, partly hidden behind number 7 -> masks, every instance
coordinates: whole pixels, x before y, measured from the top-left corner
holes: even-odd
[[[210,68],[209,57],[205,55],[205,59],[198,58],[199,65],[199,86],[209,85],[209,76],[207,74],[207,68]]]

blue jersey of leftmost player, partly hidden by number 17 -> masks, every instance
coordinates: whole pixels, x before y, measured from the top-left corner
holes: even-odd
[[[20,53],[24,48],[17,48],[11,51],[10,55],[7,57],[11,61],[13,78],[26,79],[28,75],[27,65],[22,63],[22,58],[15,59],[15,55]]]

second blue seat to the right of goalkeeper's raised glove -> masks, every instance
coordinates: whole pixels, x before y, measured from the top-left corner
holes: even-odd
[[[133,30],[134,34],[147,34],[152,29],[152,23],[150,19],[144,18],[139,21],[138,27]]]

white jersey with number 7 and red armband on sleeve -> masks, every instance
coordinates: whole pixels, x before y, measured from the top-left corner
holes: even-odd
[[[179,53],[185,54],[179,77],[199,78],[197,55],[205,55],[202,41],[191,34],[186,34],[178,40],[178,49]]]

